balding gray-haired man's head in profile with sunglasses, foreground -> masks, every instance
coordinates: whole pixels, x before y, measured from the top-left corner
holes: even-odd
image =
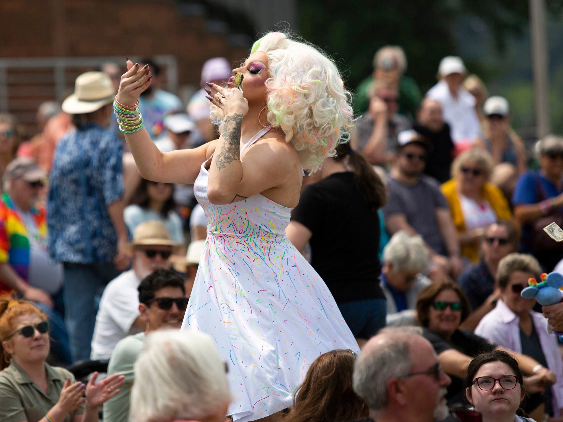
[[[418,327],[388,327],[362,349],[353,385],[372,420],[434,422],[448,417],[450,378],[421,333]]]

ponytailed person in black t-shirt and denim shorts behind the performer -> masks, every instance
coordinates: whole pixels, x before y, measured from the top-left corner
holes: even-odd
[[[322,179],[301,193],[285,232],[300,251],[310,243],[311,265],[361,346],[385,326],[377,214],[385,186],[349,142],[336,151],[324,161]]]

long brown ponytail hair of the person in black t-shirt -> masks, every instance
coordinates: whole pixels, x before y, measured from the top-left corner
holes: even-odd
[[[365,200],[368,201],[369,207],[377,211],[387,202],[387,193],[381,178],[361,152],[352,150],[350,142],[338,145],[334,160],[341,161],[346,157],[348,157],[348,164],[354,172],[356,186]]]

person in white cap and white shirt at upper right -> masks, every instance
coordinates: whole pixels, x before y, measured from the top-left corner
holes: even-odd
[[[460,57],[446,56],[438,68],[440,82],[426,93],[442,105],[444,120],[452,129],[452,140],[458,149],[475,143],[481,132],[475,98],[462,86],[466,74]]]

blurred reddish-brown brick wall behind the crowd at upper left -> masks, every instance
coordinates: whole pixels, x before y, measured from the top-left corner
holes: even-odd
[[[123,56],[124,62],[126,55],[173,55],[181,89],[199,86],[205,60],[225,56],[235,63],[248,54],[250,37],[240,46],[240,37],[233,43],[228,33],[209,33],[204,14],[180,6],[173,0],[2,0],[0,58]],[[67,75],[69,87],[73,78]],[[37,106],[55,96],[52,69],[12,69],[7,80],[8,110],[33,134]]]

